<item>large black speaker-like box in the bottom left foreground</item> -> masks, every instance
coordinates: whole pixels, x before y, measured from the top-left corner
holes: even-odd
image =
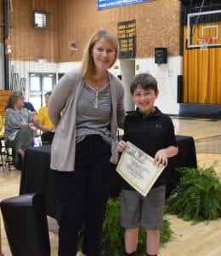
[[[50,256],[48,222],[42,194],[1,201],[3,224],[13,256]]]

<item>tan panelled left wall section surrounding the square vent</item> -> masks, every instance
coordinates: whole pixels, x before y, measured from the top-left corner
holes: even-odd
[[[14,26],[10,29],[12,40],[11,60],[37,61],[44,58],[48,62],[57,62],[59,53],[59,1],[14,1],[14,10],[10,20]],[[32,26],[33,11],[48,13],[48,28],[38,29]]]

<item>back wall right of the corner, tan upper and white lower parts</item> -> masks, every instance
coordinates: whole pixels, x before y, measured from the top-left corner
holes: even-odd
[[[94,30],[102,28],[117,32],[117,22],[136,20],[136,59],[131,72],[149,72],[156,76],[160,95],[156,104],[166,113],[178,113],[177,77],[182,74],[182,57],[179,55],[179,2],[156,0],[150,3],[138,3],[119,8],[96,10],[96,1],[62,1],[61,41],[59,73],[75,67],[81,61],[82,50]],[[69,18],[72,17],[72,18]],[[68,20],[72,20],[69,22]],[[77,51],[67,47],[69,41],[77,42]],[[154,60],[155,47],[167,47],[167,63],[157,65]],[[128,60],[128,67],[131,68]],[[127,64],[126,64],[127,65]],[[111,72],[121,74],[120,61]],[[170,72],[170,73],[169,73]],[[127,80],[127,79],[126,79]],[[129,84],[123,81],[126,95]],[[129,94],[128,94],[129,95]],[[126,108],[131,104],[126,101]]]

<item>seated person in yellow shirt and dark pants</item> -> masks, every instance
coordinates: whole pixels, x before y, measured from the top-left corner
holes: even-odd
[[[37,116],[36,116],[36,123],[37,128],[42,131],[41,139],[42,144],[51,144],[54,138],[54,128],[52,125],[51,120],[48,116],[48,101],[51,96],[51,91],[48,91],[45,94],[45,107],[39,108]]]

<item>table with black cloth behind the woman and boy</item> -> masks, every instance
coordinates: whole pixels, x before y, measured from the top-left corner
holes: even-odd
[[[166,196],[178,183],[179,173],[176,168],[197,166],[193,137],[179,135],[176,137],[179,150],[178,154],[169,160]],[[26,149],[20,178],[20,195],[41,192],[45,198],[48,216],[58,219],[59,201],[54,189],[53,171],[50,170],[50,149],[50,145]],[[118,193],[116,183],[112,187],[112,195]]]

